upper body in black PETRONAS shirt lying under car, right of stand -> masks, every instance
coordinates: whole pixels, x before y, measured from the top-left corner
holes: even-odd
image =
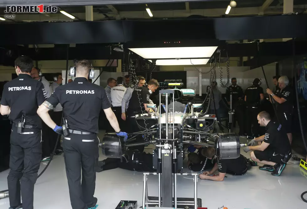
[[[206,147],[201,145],[194,145],[196,148],[195,152],[188,154],[188,167],[193,171],[203,171],[213,168],[213,163],[210,159],[206,158],[203,154],[205,153]]]

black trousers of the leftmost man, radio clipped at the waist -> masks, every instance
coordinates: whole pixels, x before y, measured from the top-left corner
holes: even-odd
[[[17,133],[17,127],[12,127],[9,199],[11,207],[18,206],[21,194],[23,209],[33,209],[34,184],[42,156],[42,132],[37,128],[23,128],[23,133]]]

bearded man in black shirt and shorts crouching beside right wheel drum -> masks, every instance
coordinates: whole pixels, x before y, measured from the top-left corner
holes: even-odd
[[[255,150],[251,152],[252,160],[264,164],[259,169],[279,176],[291,158],[292,150],[288,136],[279,123],[271,120],[268,112],[260,112],[257,119],[260,126],[266,127],[265,135],[252,139],[243,150],[244,152]],[[251,146],[255,142],[262,143],[258,146]]]

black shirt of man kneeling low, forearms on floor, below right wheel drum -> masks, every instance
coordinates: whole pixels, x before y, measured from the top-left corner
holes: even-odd
[[[240,154],[236,159],[221,159],[217,165],[220,173],[241,174],[246,169],[246,159]]]

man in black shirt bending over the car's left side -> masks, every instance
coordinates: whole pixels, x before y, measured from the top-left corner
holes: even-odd
[[[149,128],[153,124],[149,124],[150,121],[144,121],[144,120],[135,120],[136,114],[142,114],[143,112],[154,112],[151,108],[148,108],[147,105],[149,104],[149,97],[150,95],[157,90],[159,87],[159,83],[155,79],[151,79],[148,82],[148,86],[142,86],[137,87],[131,96],[129,106],[127,109],[127,123],[129,131],[128,133],[135,133],[140,131],[138,128],[138,124],[145,130],[146,128]],[[146,125],[147,124],[147,125]],[[142,135],[138,135],[136,137],[135,142],[143,142]],[[144,145],[134,146],[134,149],[138,149],[140,152],[143,152]]]

